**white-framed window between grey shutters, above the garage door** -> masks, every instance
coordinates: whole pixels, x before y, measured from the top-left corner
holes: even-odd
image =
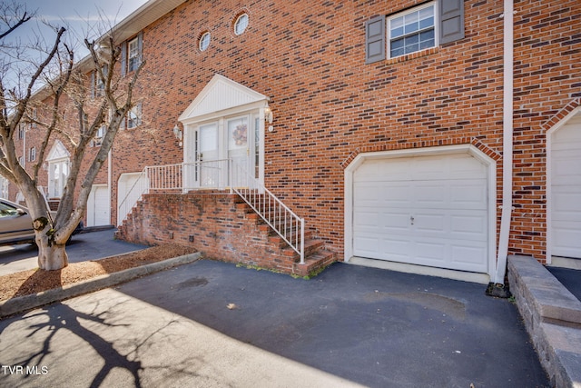
[[[435,47],[436,33],[436,3],[389,17],[389,58]]]

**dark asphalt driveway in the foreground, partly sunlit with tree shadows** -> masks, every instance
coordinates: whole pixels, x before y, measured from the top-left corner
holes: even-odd
[[[10,386],[549,386],[510,301],[350,264],[182,265],[0,321],[0,361],[40,371]]]

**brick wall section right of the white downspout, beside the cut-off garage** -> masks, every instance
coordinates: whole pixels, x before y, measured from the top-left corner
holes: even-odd
[[[544,263],[552,127],[547,122],[581,96],[581,4],[517,1],[515,10],[515,212],[509,249]]]

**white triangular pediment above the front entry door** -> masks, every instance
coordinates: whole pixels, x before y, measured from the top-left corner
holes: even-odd
[[[225,112],[231,108],[260,104],[266,106],[269,97],[261,95],[244,85],[240,85],[223,75],[214,75],[192,104],[180,115],[182,123],[203,120],[213,114]]]

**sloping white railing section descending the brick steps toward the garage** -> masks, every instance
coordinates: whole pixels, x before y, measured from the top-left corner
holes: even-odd
[[[281,238],[300,255],[305,263],[305,220],[289,209],[258,179],[231,161],[231,189],[251,206]]]

